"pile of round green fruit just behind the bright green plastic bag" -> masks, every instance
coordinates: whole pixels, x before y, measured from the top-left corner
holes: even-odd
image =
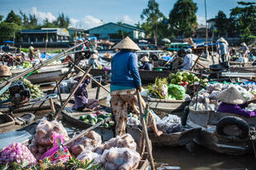
[[[203,86],[206,86],[207,83],[204,82],[208,82],[207,78],[200,79],[197,78],[194,73],[188,73],[186,71],[177,72],[176,74],[170,73],[168,77],[172,84],[178,84],[182,86],[190,85],[194,82],[202,83]]]

